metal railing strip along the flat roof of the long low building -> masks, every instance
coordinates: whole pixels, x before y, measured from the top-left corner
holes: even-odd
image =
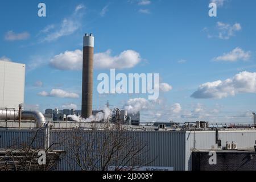
[[[7,123],[7,124],[6,124]],[[18,121],[0,121],[0,129],[16,129],[18,128]],[[81,128],[87,130],[100,130],[105,129],[106,124],[117,125],[113,122],[76,122],[76,121],[47,121],[51,123],[53,129],[72,129]],[[120,123],[119,123],[120,124]],[[121,125],[127,130],[161,130],[161,131],[184,131],[184,130],[256,130],[256,127],[252,123],[209,123],[203,122],[201,125],[197,122],[185,122],[185,123],[140,123],[139,126],[127,125],[127,123],[121,123]],[[21,129],[35,129],[35,121],[22,121]]]

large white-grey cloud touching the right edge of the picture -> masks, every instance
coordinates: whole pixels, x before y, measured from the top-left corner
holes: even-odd
[[[193,98],[225,98],[238,93],[256,93],[256,73],[241,72],[224,81],[207,82],[192,94]]]

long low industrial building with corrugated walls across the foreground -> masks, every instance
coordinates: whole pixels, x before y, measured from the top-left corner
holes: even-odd
[[[60,142],[61,137],[71,134],[77,126],[81,127],[81,133],[84,138],[92,134],[103,135],[106,132],[101,130],[100,125],[102,124],[97,126],[98,130],[92,131],[90,123],[82,123],[82,125],[77,122],[51,123],[53,123],[53,126],[49,133],[50,144]],[[23,125],[25,126],[26,124],[23,123]],[[29,126],[28,124],[27,129],[22,130],[12,129],[11,127],[8,130],[5,128],[0,129],[0,148],[8,148],[14,142],[28,142],[31,139],[31,133],[36,131],[36,129],[28,129]],[[251,129],[239,127],[232,129],[219,128],[217,130],[216,128],[160,129],[159,127],[152,126],[131,127],[128,125],[125,127],[125,132],[132,135],[134,140],[143,139],[143,142],[147,143],[148,160],[152,160],[150,166],[173,167],[175,171],[207,169],[256,170],[254,164],[256,159],[254,150],[256,130],[254,127],[251,127]],[[70,140],[72,138],[69,138],[69,142]],[[38,142],[43,146],[44,141],[44,137],[42,137]],[[63,142],[63,146],[68,146],[68,143],[65,143],[68,142],[67,140]],[[226,143],[232,144],[232,142],[236,143],[236,147],[226,148]],[[70,154],[68,153],[68,148],[63,146],[56,146],[54,148],[54,150],[67,151],[57,164],[56,169],[70,170],[70,164],[67,161]],[[210,151],[216,151],[218,154],[216,165],[208,163]],[[75,169],[79,170],[79,166],[76,166]]]

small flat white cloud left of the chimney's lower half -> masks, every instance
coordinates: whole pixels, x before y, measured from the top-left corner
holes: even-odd
[[[79,98],[79,94],[73,92],[67,92],[61,89],[52,89],[50,93],[48,92],[39,92],[39,96],[48,96],[48,97],[61,97],[61,98]]]

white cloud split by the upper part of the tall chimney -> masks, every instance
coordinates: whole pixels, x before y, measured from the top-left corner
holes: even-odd
[[[133,68],[141,61],[141,56],[138,52],[127,50],[120,53],[118,56],[111,56],[111,51],[94,54],[94,68],[96,69],[125,69]],[[65,51],[54,56],[50,65],[61,70],[81,70],[82,69],[82,51]]]

